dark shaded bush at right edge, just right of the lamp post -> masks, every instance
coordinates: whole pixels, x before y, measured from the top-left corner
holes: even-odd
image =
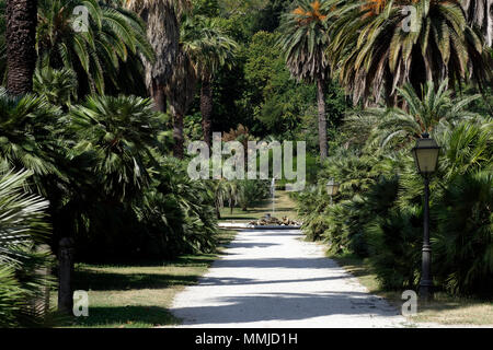
[[[434,265],[451,293],[493,291],[493,175],[480,172],[448,184],[435,205]]]

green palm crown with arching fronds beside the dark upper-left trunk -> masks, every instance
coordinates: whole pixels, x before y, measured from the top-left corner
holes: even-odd
[[[76,30],[73,10],[78,5],[89,9],[87,30]],[[137,52],[149,60],[153,57],[145,24],[122,8],[96,0],[41,0],[38,22],[39,57],[55,69],[76,71],[79,88],[92,93],[104,94],[105,81],[118,86],[122,63],[135,62]]]

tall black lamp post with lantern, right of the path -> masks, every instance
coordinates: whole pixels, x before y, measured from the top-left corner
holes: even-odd
[[[417,171],[424,178],[425,198],[423,212],[423,259],[422,275],[420,281],[420,298],[425,301],[433,299],[433,279],[431,273],[432,247],[429,245],[429,176],[436,171],[438,165],[438,153],[440,148],[429,135],[424,132],[421,139],[417,139],[416,145],[412,149],[414,162]]]

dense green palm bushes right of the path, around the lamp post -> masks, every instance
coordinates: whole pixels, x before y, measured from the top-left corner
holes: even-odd
[[[452,294],[488,296],[493,290],[492,121],[461,109],[474,98],[454,103],[449,94],[433,97],[422,102],[420,115],[433,122],[432,137],[442,147],[439,170],[431,182],[434,281]],[[447,114],[454,118],[433,119],[443,115],[433,109],[438,107],[454,108]],[[347,119],[349,136],[364,126],[374,129],[364,143],[341,142],[319,172],[318,189],[297,196],[302,229],[308,238],[329,243],[332,254],[369,257],[382,288],[416,289],[423,180],[409,152],[413,138],[408,136],[420,122],[395,108],[378,114],[383,117],[368,113]],[[388,142],[395,132],[405,137]],[[341,184],[332,205],[323,190],[329,178]]]

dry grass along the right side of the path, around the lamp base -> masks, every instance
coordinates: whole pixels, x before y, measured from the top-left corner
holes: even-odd
[[[401,293],[381,290],[377,275],[371,270],[367,259],[354,255],[329,256],[340,266],[357,277],[372,294],[383,296],[401,307],[404,302]],[[468,298],[450,296],[446,293],[435,293],[435,300],[427,304],[419,304],[417,315],[409,318],[416,323],[437,323],[442,325],[493,325],[493,302]]]

